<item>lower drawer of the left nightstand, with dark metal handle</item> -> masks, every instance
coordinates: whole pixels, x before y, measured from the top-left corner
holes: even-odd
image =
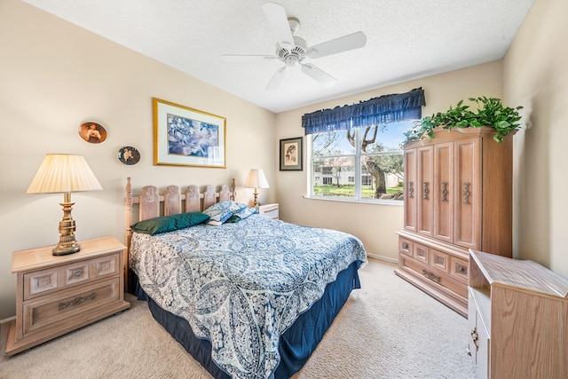
[[[89,319],[92,310],[114,303],[121,296],[117,277],[30,301],[23,306],[24,335],[41,331],[48,325],[57,328],[59,324],[81,324]]]

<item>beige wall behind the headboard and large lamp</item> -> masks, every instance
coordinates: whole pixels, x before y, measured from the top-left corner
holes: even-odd
[[[104,188],[72,196],[79,240],[123,241],[128,176],[135,188],[151,184],[148,178],[156,186],[236,178],[242,186],[248,169],[258,167],[276,182],[275,115],[263,108],[17,0],[0,1],[0,46],[0,320],[15,314],[12,251],[58,241],[62,194],[26,194],[44,154],[83,154]],[[154,166],[153,97],[226,117],[227,169]],[[87,120],[105,126],[105,142],[79,137]],[[119,162],[122,146],[137,147],[140,162]],[[264,201],[276,200],[274,187],[261,190]],[[252,200],[252,190],[237,193],[237,200]]]

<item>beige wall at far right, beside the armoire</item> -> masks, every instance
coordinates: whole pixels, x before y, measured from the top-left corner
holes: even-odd
[[[566,14],[566,0],[536,1],[503,59],[503,91],[528,122],[515,137],[514,249],[568,277]]]

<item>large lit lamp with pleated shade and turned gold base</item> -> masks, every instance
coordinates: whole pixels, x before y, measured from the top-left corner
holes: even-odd
[[[65,256],[81,249],[75,240],[75,220],[71,217],[72,192],[102,190],[99,180],[81,155],[46,154],[26,193],[63,193],[63,219],[59,221],[59,243],[54,256]]]

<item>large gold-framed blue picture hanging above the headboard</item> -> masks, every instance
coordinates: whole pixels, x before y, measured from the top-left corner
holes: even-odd
[[[154,165],[226,169],[226,119],[153,98]]]

